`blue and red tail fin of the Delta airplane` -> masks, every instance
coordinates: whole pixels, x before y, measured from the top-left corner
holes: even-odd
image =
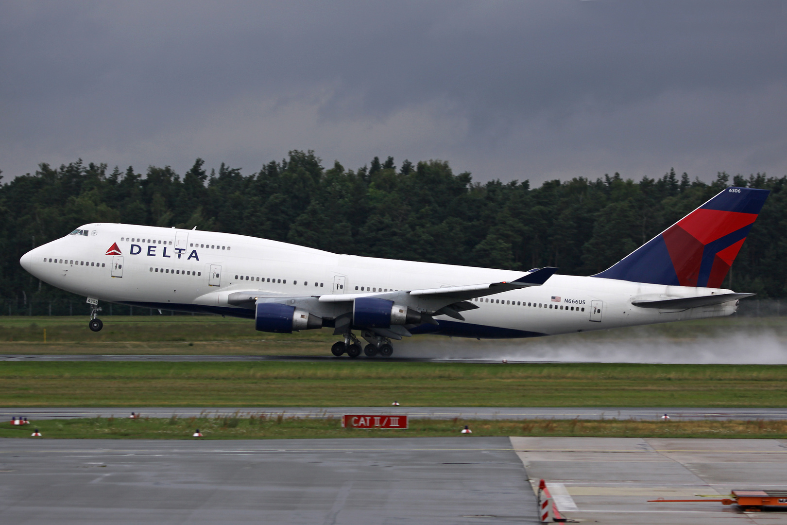
[[[594,277],[719,288],[769,193],[726,188]]]

